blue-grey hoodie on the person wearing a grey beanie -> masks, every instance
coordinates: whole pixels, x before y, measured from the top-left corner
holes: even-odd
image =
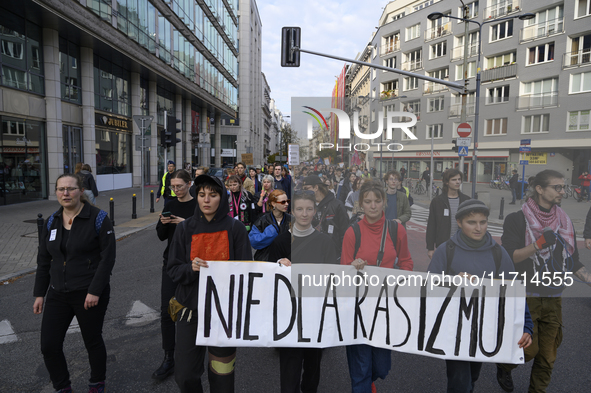
[[[488,274],[489,272],[495,272],[496,266],[495,260],[493,258],[492,248],[495,246],[496,242],[492,238],[490,233],[486,232],[485,234],[486,243],[482,247],[474,249],[468,246],[462,240],[460,236],[461,231],[461,229],[458,229],[456,234],[448,240],[450,242],[454,242],[456,245],[454,251],[454,259],[451,263],[451,270],[456,274],[465,272],[479,277],[481,277],[483,274]],[[433,258],[431,259],[431,263],[429,264],[429,268],[427,269],[427,271],[435,274],[441,274],[441,272],[446,273],[446,247],[447,242],[444,242],[439,247],[437,247],[435,253],[433,253]],[[505,277],[511,277],[509,273],[515,271],[513,260],[503,247],[501,247],[501,251],[503,257],[501,258],[501,266],[499,268],[498,273],[505,273]],[[529,312],[527,303],[525,303],[524,322],[525,323],[523,326],[523,332],[529,333],[533,336],[534,324],[532,322],[531,314]]]

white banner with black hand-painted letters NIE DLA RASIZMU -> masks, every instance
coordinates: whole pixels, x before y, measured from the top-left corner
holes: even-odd
[[[334,347],[523,363],[525,288],[403,270],[209,262],[199,278],[197,345]],[[293,296],[292,296],[293,294]]]

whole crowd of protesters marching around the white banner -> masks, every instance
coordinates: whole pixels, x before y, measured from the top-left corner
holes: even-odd
[[[375,170],[358,166],[247,167],[239,162],[216,177],[208,175],[208,168],[189,173],[168,162],[158,189],[157,201],[162,198],[164,206],[156,226],[158,238],[166,242],[160,319],[164,357],[159,367],[155,365],[152,378],[174,375],[181,392],[202,392],[201,378],[207,366],[211,392],[234,391],[240,351],[195,345],[199,277],[209,267],[207,261],[412,271],[406,223],[412,216],[413,198],[403,186],[404,175],[389,171],[378,178]],[[488,273],[498,277],[527,272],[529,278],[536,272],[571,272],[578,280],[591,283],[591,275],[579,260],[572,221],[559,206],[563,175],[545,170],[530,180],[526,202],[506,217],[499,244],[487,232],[489,209],[460,191],[459,170],[446,170],[442,193],[429,206],[428,270],[468,278]],[[89,355],[89,392],[100,393],[105,391],[106,378],[102,324],[115,241],[108,216],[82,191],[81,179],[75,175],[62,175],[56,182],[61,208],[43,228],[34,312],[44,314],[41,351],[55,390],[72,391],[63,341],[76,316]],[[591,210],[584,237],[591,249]],[[66,260],[73,266],[67,272]],[[524,349],[526,363],[533,360],[529,392],[545,392],[551,381],[563,335],[563,289],[535,280],[526,282],[523,335],[514,345]],[[322,349],[279,351],[281,392],[316,392],[322,377]],[[352,392],[375,392],[374,381],[385,379],[390,371],[391,354],[365,344],[348,345]],[[447,392],[472,392],[482,363],[445,362]],[[497,381],[504,391],[514,389],[511,370],[515,367],[497,364]]]

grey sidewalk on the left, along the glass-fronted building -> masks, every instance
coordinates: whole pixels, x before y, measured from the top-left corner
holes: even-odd
[[[150,213],[150,191],[156,186],[144,189],[144,209],[142,209],[141,188],[103,191],[96,198],[96,205],[110,215],[109,200],[115,202],[115,234],[117,239],[129,236],[155,225],[164,206],[163,199],[154,203],[154,213]],[[137,219],[131,218],[132,195],[137,197]],[[37,268],[37,214],[47,219],[59,209],[57,201],[42,200],[0,206],[0,282],[35,271]]]

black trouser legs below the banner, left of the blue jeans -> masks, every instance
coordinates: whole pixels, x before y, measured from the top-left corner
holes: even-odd
[[[316,393],[321,361],[321,348],[279,348],[281,393]]]

